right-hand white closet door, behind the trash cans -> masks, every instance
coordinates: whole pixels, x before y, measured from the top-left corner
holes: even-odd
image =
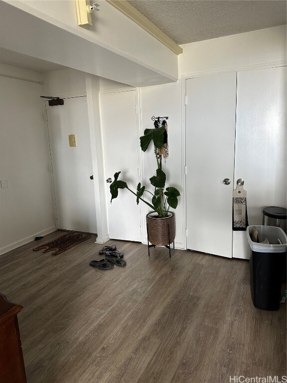
[[[264,206],[286,207],[286,67],[238,73],[235,182],[245,181],[250,225]],[[233,256],[249,258],[246,232],[234,232]]]

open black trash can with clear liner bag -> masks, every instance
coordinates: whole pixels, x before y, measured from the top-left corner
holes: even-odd
[[[269,244],[251,239],[253,227],[259,234],[259,241],[267,238]],[[247,227],[247,240],[251,249],[249,262],[253,304],[261,310],[279,310],[287,235],[280,227],[256,225]]]

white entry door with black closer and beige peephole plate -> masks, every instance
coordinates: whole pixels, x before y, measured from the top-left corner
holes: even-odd
[[[96,233],[87,97],[46,104],[58,229]],[[69,135],[76,146],[70,147]]]

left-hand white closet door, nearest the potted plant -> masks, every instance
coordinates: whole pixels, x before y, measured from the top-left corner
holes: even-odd
[[[236,72],[187,79],[186,99],[187,248],[231,258]]]

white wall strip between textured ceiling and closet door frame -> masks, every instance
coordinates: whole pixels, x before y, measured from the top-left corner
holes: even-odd
[[[286,25],[181,45],[179,75],[286,60]]]

